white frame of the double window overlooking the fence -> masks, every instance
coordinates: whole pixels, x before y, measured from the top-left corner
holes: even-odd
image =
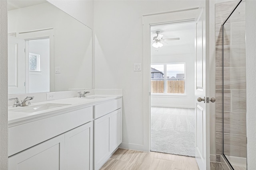
[[[167,65],[168,64],[184,64],[184,94],[179,94],[179,93],[166,93],[167,92],[167,86],[166,86],[166,81],[170,80],[170,78],[166,78],[167,77]],[[153,93],[151,92],[151,95],[155,96],[155,97],[171,97],[171,96],[186,96],[186,63],[182,62],[182,63],[151,63],[150,67],[152,67],[152,65],[164,65],[164,78],[156,78],[155,80],[164,80],[164,93]],[[151,78],[151,73],[150,73],[150,82],[151,82],[152,78]],[[154,79],[153,79],[154,80]],[[150,88],[151,89],[151,88]]]

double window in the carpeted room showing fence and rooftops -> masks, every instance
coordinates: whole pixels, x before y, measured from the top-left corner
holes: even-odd
[[[151,64],[151,92],[185,94],[185,63]]]

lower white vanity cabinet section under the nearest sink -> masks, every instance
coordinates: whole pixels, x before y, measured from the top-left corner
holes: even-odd
[[[9,170],[92,170],[92,120],[91,106],[13,125],[9,136],[16,141],[10,141],[9,154],[14,154],[8,158]]]

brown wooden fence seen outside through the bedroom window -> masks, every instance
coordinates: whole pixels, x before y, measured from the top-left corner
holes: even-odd
[[[166,80],[166,93],[184,94],[184,80]],[[164,93],[164,80],[151,80],[151,93]]]

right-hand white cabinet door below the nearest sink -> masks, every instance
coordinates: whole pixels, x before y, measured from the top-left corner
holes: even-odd
[[[65,133],[65,169],[92,170],[93,122]]]

